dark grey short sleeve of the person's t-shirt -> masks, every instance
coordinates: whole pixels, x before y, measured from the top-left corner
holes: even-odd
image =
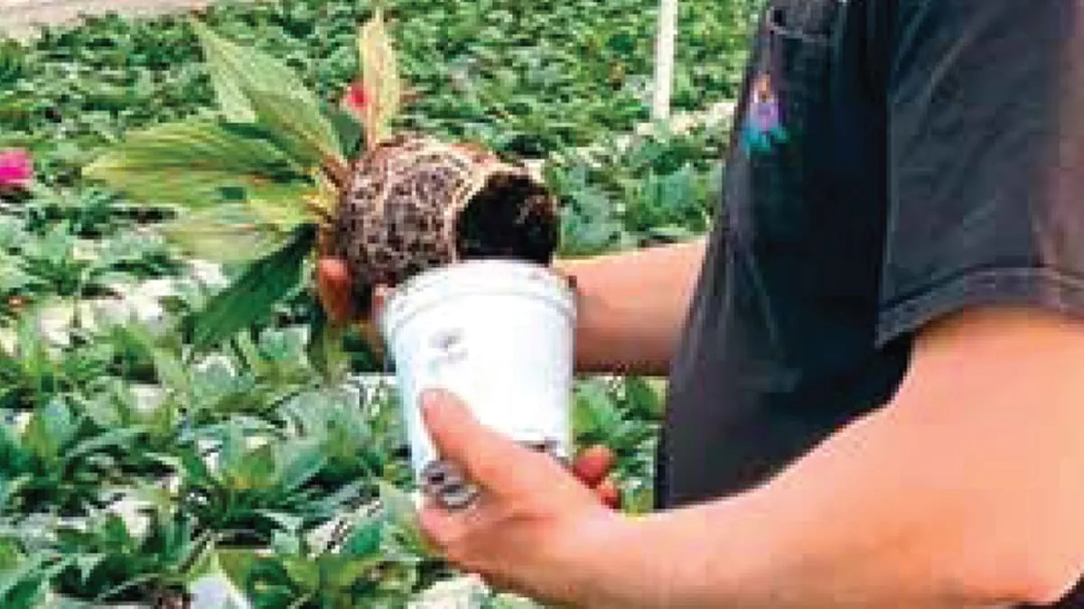
[[[971,306],[1084,313],[1084,9],[895,7],[879,342]]]

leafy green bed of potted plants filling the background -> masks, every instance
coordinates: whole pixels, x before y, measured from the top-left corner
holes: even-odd
[[[679,108],[733,96],[754,4],[682,3]],[[405,126],[546,160],[566,255],[709,228],[724,127],[616,143],[648,116],[654,0],[387,5],[415,87]],[[363,1],[276,0],[205,18],[335,103],[369,14]],[[358,337],[350,380],[323,375],[298,294],[194,355],[185,320],[221,277],[162,238],[169,209],[83,180],[102,146],[211,104],[177,16],[0,43],[0,150],[35,160],[29,189],[0,194],[2,607],[178,601],[215,573],[251,607],[404,607],[454,575],[412,528],[395,388]],[[143,293],[150,313],[117,304]],[[650,505],[661,403],[647,379],[577,385],[578,438],[617,450],[630,510]]]

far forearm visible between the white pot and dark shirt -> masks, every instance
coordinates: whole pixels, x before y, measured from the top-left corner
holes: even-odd
[[[579,291],[578,372],[668,372],[705,243],[701,238],[555,263],[575,277]]]

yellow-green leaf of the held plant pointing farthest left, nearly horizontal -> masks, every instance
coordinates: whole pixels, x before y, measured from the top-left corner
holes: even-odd
[[[83,176],[131,197],[206,208],[230,198],[274,203],[306,215],[307,170],[272,142],[207,120],[159,125],[128,135]]]

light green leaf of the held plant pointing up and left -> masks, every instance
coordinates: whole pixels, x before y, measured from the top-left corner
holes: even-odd
[[[270,55],[220,37],[198,21],[193,21],[193,28],[228,119],[269,128],[289,141],[295,158],[306,164],[344,160],[335,128],[293,70]]]

